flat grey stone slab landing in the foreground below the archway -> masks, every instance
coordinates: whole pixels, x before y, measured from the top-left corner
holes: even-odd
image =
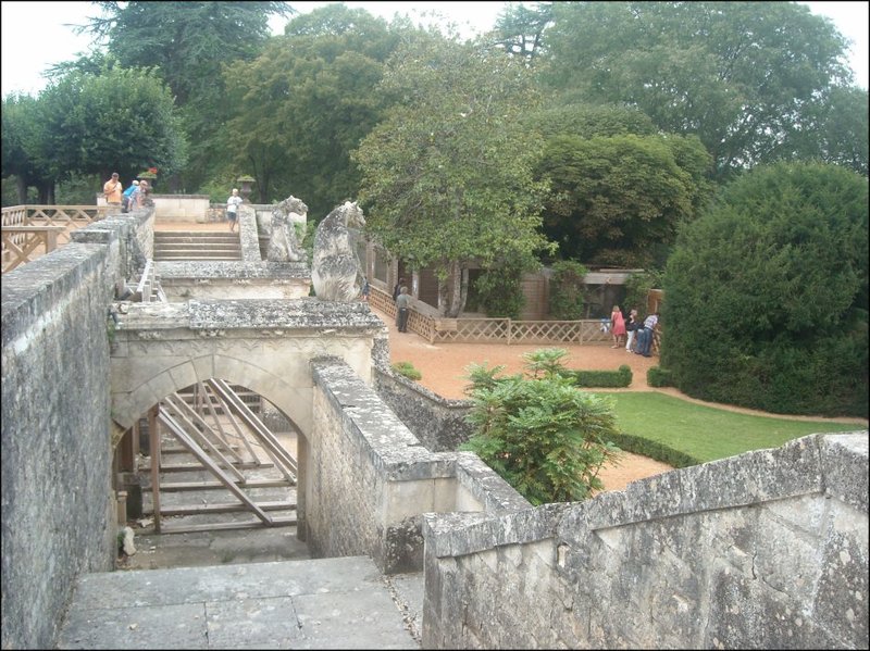
[[[413,593],[422,603],[422,581]],[[420,648],[366,556],[87,574],[76,583],[57,648],[167,644]]]

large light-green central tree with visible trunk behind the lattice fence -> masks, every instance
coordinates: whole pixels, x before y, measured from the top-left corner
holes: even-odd
[[[437,36],[391,59],[378,91],[399,99],[355,154],[370,234],[417,268],[433,267],[438,308],[457,316],[467,271],[530,260],[545,184],[540,140],[521,114],[537,96],[524,62]]]

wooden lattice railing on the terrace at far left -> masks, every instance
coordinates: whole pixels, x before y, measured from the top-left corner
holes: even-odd
[[[13,205],[2,210],[3,272],[70,242],[70,233],[105,217],[110,205]],[[49,236],[49,234],[52,234]],[[49,239],[53,238],[51,242]],[[51,247],[51,248],[49,248]]]

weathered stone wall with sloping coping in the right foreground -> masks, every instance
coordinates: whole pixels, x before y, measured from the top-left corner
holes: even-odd
[[[867,431],[424,537],[424,648],[868,644]]]

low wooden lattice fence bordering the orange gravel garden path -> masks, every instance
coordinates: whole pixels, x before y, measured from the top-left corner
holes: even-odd
[[[370,304],[396,318],[393,297],[377,287],[371,287]],[[425,308],[424,308],[425,309]],[[612,335],[601,330],[601,321],[513,321],[512,318],[443,318],[411,308],[408,329],[430,343],[609,343]],[[652,351],[658,352],[659,333],[656,331]]]

